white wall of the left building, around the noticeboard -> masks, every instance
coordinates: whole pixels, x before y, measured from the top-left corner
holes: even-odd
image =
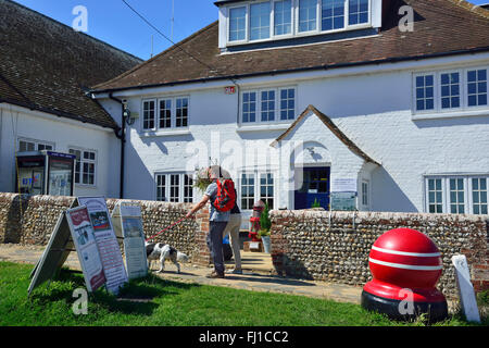
[[[25,138],[52,142],[57,152],[96,151],[96,185],[75,184],[75,195],[118,197],[120,140],[112,129],[4,103],[0,109],[0,191],[15,191],[15,147]]]

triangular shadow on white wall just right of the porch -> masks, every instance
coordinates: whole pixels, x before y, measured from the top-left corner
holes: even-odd
[[[373,211],[383,212],[417,212],[416,206],[401,190],[392,176],[384,166],[377,167],[372,173]],[[419,188],[421,189],[421,188]]]

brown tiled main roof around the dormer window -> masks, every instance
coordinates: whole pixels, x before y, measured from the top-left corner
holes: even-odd
[[[378,35],[314,45],[221,53],[214,22],[153,59],[95,86],[108,91],[210,79],[324,70],[489,51],[489,18],[456,0],[385,0]],[[414,32],[398,24],[401,5],[415,12]],[[190,53],[193,58],[188,54]]]

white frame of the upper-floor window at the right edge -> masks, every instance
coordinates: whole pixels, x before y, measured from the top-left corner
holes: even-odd
[[[437,117],[450,117],[450,116],[464,116],[464,115],[474,115],[474,114],[485,114],[489,111],[489,91],[488,91],[488,103],[486,105],[468,105],[468,79],[467,73],[469,71],[478,71],[486,70],[487,77],[489,77],[489,65],[486,66],[468,66],[468,67],[459,67],[459,69],[446,69],[446,70],[437,70],[437,71],[422,71],[414,72],[412,74],[412,116],[413,120],[422,120],[422,119],[437,119]],[[443,109],[441,105],[441,75],[448,73],[459,73],[460,75],[460,107],[459,108],[450,108]],[[416,77],[434,75],[434,87],[435,87],[435,108],[432,110],[417,110],[416,104]],[[489,78],[487,82],[489,87]]]

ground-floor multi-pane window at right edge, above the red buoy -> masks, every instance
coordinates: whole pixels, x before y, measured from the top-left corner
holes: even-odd
[[[430,213],[487,214],[489,175],[426,178],[427,211]]]

